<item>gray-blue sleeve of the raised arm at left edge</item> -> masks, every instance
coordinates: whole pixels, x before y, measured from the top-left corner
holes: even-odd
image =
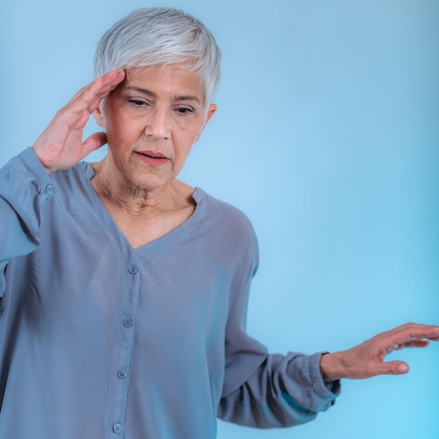
[[[55,193],[32,148],[0,170],[0,296],[6,288],[5,268],[14,257],[39,247],[42,210]]]

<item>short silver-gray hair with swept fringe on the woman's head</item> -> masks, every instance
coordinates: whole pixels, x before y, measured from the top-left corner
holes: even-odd
[[[184,62],[201,81],[208,107],[219,86],[221,52],[202,22],[175,8],[133,11],[97,44],[95,76],[129,69]]]

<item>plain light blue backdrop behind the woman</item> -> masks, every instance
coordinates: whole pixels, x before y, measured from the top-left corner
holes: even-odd
[[[439,2],[3,1],[0,164],[92,79],[100,35],[144,6],[193,13],[222,48],[219,109],[182,180],[252,219],[250,334],[313,353],[438,324]],[[437,439],[439,346],[391,358],[410,374],[344,381],[311,424],[219,423],[218,438]]]

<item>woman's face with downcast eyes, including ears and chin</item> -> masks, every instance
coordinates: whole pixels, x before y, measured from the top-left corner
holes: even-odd
[[[196,76],[173,64],[129,69],[95,118],[107,128],[109,160],[123,184],[153,190],[180,172],[215,110],[205,112]]]

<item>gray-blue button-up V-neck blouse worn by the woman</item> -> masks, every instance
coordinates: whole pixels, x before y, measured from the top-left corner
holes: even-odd
[[[0,171],[0,438],[211,439],[316,417],[339,393],[321,353],[269,355],[245,332],[257,240],[201,189],[179,227],[134,249],[81,162],[32,149]]]

